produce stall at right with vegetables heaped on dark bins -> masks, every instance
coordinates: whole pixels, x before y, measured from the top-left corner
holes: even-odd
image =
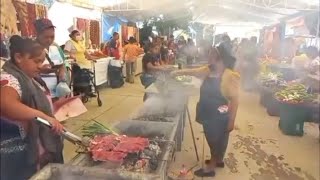
[[[319,123],[319,78],[306,75],[297,79],[292,66],[263,60],[260,75],[260,103],[271,116],[279,116],[284,134],[302,136],[305,122]],[[265,66],[268,64],[267,66]]]

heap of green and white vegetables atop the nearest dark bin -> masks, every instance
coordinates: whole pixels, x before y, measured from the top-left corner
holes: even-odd
[[[277,100],[289,104],[308,103],[314,99],[314,95],[309,94],[307,88],[298,83],[288,85],[286,88],[277,92],[275,96]]]

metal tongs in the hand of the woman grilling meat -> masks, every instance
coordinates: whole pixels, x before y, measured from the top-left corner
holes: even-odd
[[[42,123],[46,126],[48,126],[49,128],[51,128],[51,124],[42,118],[36,117],[35,120],[39,123]],[[75,144],[75,145],[79,145],[79,146],[83,146],[83,147],[88,147],[90,144],[90,140],[86,139],[86,138],[81,138],[73,133],[71,133],[70,131],[68,131],[67,129],[63,129],[63,133],[62,133],[63,137],[70,141],[71,143]]]

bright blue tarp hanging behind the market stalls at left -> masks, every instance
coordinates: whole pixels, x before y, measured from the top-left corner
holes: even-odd
[[[126,20],[110,14],[102,15],[102,41],[107,42],[112,37],[114,32],[120,33],[121,24],[126,23]]]

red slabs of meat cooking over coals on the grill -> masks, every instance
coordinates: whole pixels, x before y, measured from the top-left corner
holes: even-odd
[[[92,139],[89,151],[94,161],[120,163],[121,169],[144,172],[156,170],[161,154],[157,141],[124,135],[102,135]]]

